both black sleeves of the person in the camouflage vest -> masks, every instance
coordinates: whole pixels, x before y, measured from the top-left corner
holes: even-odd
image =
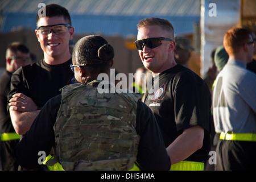
[[[30,130],[15,148],[15,156],[20,166],[31,169],[40,168],[39,151],[49,155],[55,145],[53,125],[61,103],[61,94],[53,97],[40,111]],[[144,170],[169,170],[170,158],[164,146],[162,135],[151,110],[138,101],[136,131],[141,137],[137,162]]]

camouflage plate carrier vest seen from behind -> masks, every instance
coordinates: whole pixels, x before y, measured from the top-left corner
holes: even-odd
[[[55,131],[64,170],[128,170],[138,153],[137,94],[100,94],[99,81],[63,88]],[[94,86],[93,86],[94,85]]]

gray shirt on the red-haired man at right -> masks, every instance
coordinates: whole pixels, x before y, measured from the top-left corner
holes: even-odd
[[[256,134],[256,75],[239,60],[228,60],[213,90],[216,133]]]

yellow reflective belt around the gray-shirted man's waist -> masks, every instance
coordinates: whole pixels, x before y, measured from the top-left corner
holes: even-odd
[[[237,141],[247,141],[247,142],[256,142],[256,134],[254,133],[221,133],[220,139],[222,140],[237,140]]]

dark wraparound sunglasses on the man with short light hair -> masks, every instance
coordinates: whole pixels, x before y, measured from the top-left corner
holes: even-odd
[[[136,44],[136,47],[138,50],[142,50],[144,46],[154,49],[154,48],[162,45],[162,40],[172,41],[172,39],[162,38],[162,37],[161,38],[148,38],[148,39],[136,40],[135,44]]]

